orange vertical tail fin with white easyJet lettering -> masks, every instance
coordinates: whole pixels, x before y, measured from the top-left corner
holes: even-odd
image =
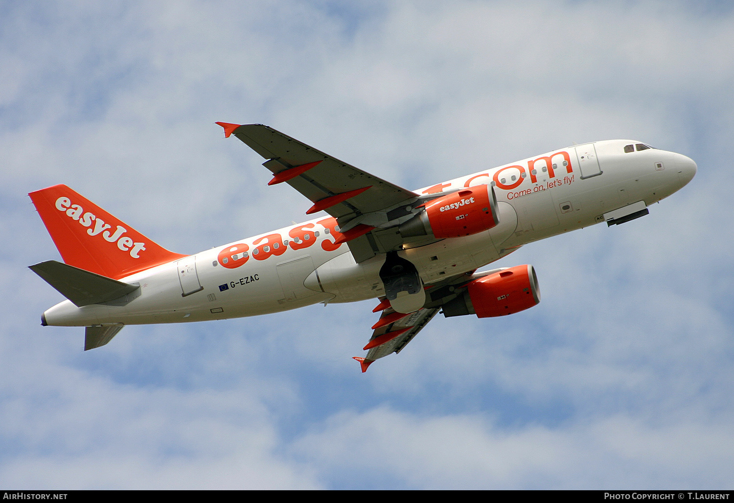
[[[65,185],[29,196],[71,266],[119,279],[185,257],[157,245]]]

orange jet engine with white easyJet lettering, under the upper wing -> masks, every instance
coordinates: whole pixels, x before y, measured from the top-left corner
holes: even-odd
[[[443,239],[487,231],[498,223],[493,188],[477,185],[429,201],[423,211],[401,224],[399,231],[404,238],[432,233]]]

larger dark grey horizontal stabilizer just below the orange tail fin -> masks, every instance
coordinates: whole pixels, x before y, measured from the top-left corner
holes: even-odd
[[[55,260],[41,262],[28,268],[79,308],[119,299],[140,288],[139,285],[116,281]]]

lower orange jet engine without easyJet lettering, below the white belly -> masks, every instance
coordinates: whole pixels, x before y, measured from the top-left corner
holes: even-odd
[[[540,302],[535,269],[521,265],[477,278],[466,291],[443,305],[443,316],[476,314],[477,318],[524,311]]]

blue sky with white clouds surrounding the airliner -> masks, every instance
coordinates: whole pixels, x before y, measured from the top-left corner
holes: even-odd
[[[727,2],[0,1],[0,484],[731,488],[734,15]],[[196,253],[304,220],[217,120],[404,187],[634,138],[690,156],[625,225],[537,242],[542,302],[437,317],[361,374],[374,303],[40,327],[64,183]],[[327,330],[324,330],[327,327]]]

